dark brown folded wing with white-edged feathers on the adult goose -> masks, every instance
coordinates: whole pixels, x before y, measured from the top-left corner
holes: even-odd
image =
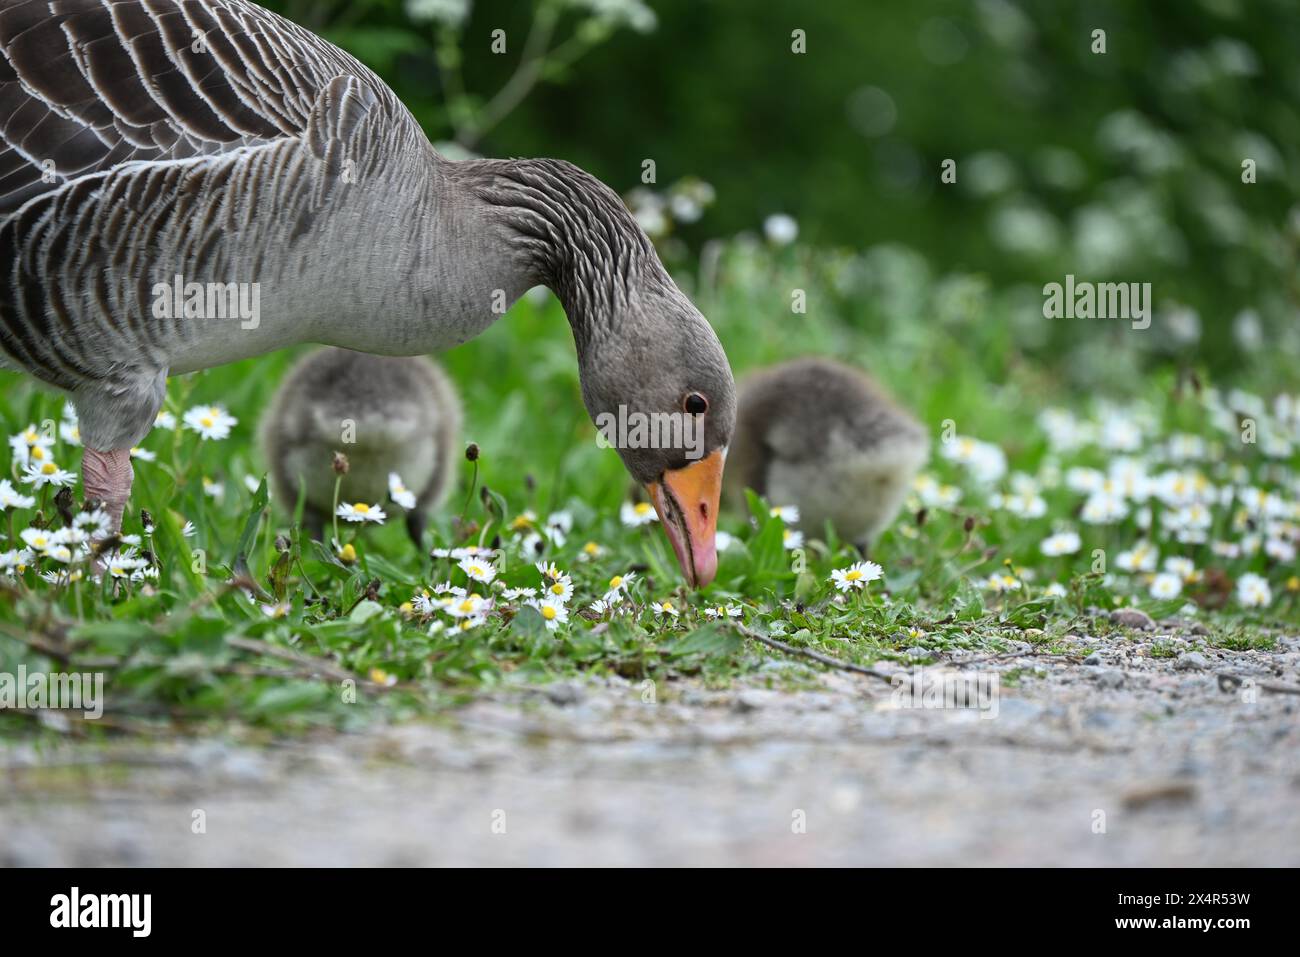
[[[322,148],[313,109],[341,77],[404,113],[356,60],[246,0],[0,0],[0,220],[126,163]]]

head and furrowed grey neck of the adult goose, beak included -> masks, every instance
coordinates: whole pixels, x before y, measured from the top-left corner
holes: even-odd
[[[451,176],[489,211],[520,285],[540,282],[559,298],[597,430],[646,488],[686,580],[707,585],[736,425],[718,335],[595,177],[563,160],[451,164]]]

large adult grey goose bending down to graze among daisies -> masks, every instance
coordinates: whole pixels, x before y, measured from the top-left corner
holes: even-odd
[[[0,0],[0,358],[72,394],[114,523],[169,374],[302,342],[422,355],[541,283],[593,419],[702,417],[702,445],[619,454],[712,579],[731,368],[594,177],[445,160],[370,70],[246,0]],[[226,283],[255,317],[214,317]]]

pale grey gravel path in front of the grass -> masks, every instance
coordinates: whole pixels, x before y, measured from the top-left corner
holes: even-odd
[[[996,715],[774,659],[745,688],[560,684],[265,746],[9,745],[0,863],[1300,865],[1300,638],[976,670]],[[759,687],[790,679],[811,689]]]

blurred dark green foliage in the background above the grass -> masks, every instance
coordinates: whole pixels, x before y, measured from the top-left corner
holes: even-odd
[[[784,212],[818,247],[902,243],[1028,308],[1066,273],[1150,282],[1156,352],[1300,355],[1291,0],[268,5],[373,66],[434,140],[562,156],[624,192],[646,159],[662,183],[701,177],[718,200],[680,229],[692,248]],[[530,49],[554,55],[520,85]],[[1036,338],[1048,356],[1079,335]]]

